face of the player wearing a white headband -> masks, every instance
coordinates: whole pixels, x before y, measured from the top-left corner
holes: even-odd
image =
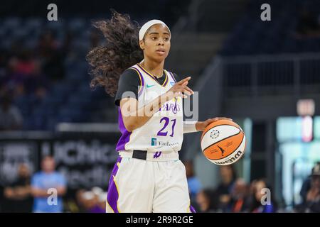
[[[155,62],[162,62],[168,56],[170,50],[170,33],[162,24],[151,26],[140,41],[140,47],[144,50],[144,57]]]

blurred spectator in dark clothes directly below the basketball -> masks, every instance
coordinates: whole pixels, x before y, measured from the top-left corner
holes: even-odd
[[[231,209],[231,192],[237,179],[237,174],[233,165],[223,165],[220,167],[221,182],[216,192],[219,198],[219,207],[225,212]]]

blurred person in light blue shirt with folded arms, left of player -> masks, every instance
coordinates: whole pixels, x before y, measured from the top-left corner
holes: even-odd
[[[31,189],[34,198],[33,212],[62,212],[62,196],[66,192],[65,177],[59,172],[55,172],[55,160],[46,156],[41,162],[41,172],[33,175]],[[48,189],[56,189],[58,194],[57,204],[48,204]]]

